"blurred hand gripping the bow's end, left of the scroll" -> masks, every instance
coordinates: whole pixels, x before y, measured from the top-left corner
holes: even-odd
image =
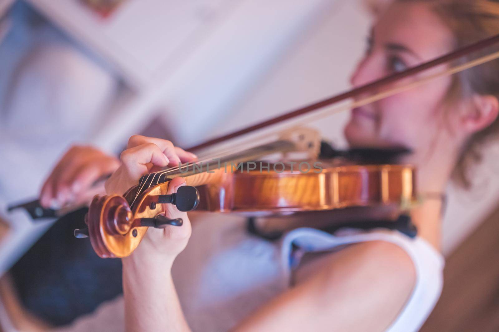
[[[44,208],[61,208],[70,204],[87,203],[96,194],[104,193],[103,176],[116,171],[120,162],[92,146],[75,145],[62,156],[45,180],[40,191]]]

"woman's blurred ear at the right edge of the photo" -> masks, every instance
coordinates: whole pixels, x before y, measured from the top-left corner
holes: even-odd
[[[473,97],[474,111],[466,112],[461,118],[463,129],[470,134],[490,126],[498,117],[499,100],[492,95]]]

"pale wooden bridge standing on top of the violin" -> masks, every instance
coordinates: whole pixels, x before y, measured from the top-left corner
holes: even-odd
[[[308,159],[316,159],[320,153],[321,136],[315,129],[294,127],[282,131],[279,138],[292,142],[294,144],[292,152],[305,153]]]

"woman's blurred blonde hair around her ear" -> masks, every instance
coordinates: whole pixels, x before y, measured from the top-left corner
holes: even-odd
[[[454,46],[460,48],[484,38],[499,34],[499,0],[395,0],[395,2],[424,2],[441,17],[454,35]],[[464,63],[481,55],[499,51],[492,47],[476,52],[459,62]],[[495,96],[499,100],[499,60],[466,70],[453,78],[450,99],[469,98],[474,94]],[[475,133],[468,140],[454,172],[454,178],[470,187],[470,167],[482,160],[482,147],[499,133],[499,119]]]

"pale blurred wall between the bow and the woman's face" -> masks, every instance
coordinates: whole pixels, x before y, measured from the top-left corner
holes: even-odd
[[[365,49],[370,16],[358,0],[336,1],[296,46],[271,68],[237,107],[219,118],[211,135],[291,111],[350,88],[349,76]],[[344,144],[348,112],[313,123]]]

